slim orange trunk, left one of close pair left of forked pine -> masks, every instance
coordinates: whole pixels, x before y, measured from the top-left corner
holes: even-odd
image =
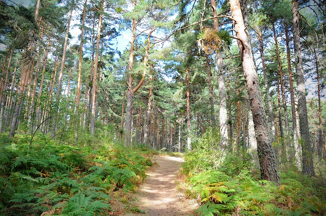
[[[79,46],[79,61],[78,61],[78,80],[77,80],[77,95],[76,95],[76,123],[75,123],[75,145],[78,143],[78,130],[79,130],[79,102],[80,102],[80,89],[82,87],[82,65],[83,65],[83,42],[84,42],[84,29],[86,17],[87,0],[84,3],[82,27],[80,33],[80,46]]]

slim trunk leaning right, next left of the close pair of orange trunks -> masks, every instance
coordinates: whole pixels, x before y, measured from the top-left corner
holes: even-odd
[[[66,30],[66,36],[65,36],[65,43],[63,45],[63,54],[62,54],[62,61],[61,61],[61,68],[60,68],[60,74],[59,74],[59,80],[58,80],[58,89],[57,89],[57,97],[56,97],[56,105],[58,106],[55,108],[55,115],[59,112],[59,99],[61,95],[61,88],[62,88],[62,78],[63,78],[63,70],[65,68],[65,62],[66,62],[66,52],[67,52],[67,45],[68,45],[68,36],[69,36],[69,27],[70,27],[70,21],[72,17],[73,7],[71,7],[68,23],[67,23],[67,30]],[[52,125],[52,131],[51,131],[51,138],[55,137],[56,130],[57,130],[57,120],[56,116],[53,117],[53,125]]]

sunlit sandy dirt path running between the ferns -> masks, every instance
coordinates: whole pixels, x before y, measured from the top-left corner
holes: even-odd
[[[126,216],[189,216],[198,208],[194,200],[188,200],[176,189],[176,180],[181,158],[155,156],[154,165],[148,172],[144,184],[135,193],[131,206],[137,206],[145,213],[128,212]]]

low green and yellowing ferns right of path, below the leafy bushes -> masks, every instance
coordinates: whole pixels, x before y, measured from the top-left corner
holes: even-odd
[[[235,157],[230,157],[235,158]],[[186,158],[187,159],[187,158]],[[188,163],[187,161],[185,163]],[[238,160],[234,161],[233,167]],[[227,164],[231,165],[231,159]],[[186,194],[202,203],[202,215],[324,215],[325,185],[320,179],[294,172],[281,173],[279,188],[252,177],[248,169],[188,173]],[[193,175],[194,174],[194,175]],[[316,187],[319,185],[318,187]]]

